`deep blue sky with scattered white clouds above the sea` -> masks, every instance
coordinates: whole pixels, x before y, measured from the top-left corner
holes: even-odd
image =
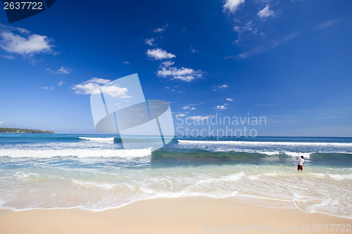
[[[0,126],[95,133],[89,94],[138,73],[182,118],[260,136],[352,136],[351,1],[56,1],[0,11]],[[175,123],[177,119],[175,118]]]

